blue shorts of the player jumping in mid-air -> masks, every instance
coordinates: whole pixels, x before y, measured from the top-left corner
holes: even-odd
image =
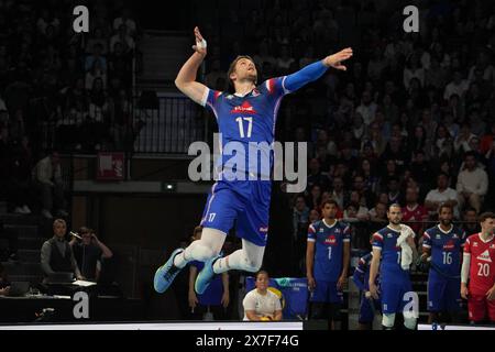
[[[271,180],[219,180],[211,187],[201,226],[228,233],[237,220],[239,238],[265,246],[271,196]]]

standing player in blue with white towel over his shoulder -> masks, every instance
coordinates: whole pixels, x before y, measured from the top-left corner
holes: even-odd
[[[380,268],[383,329],[393,329],[396,314],[402,312],[406,329],[414,330],[418,318],[418,301],[413,292],[409,267],[417,257],[415,233],[411,228],[400,223],[403,213],[399,205],[388,207],[387,218],[388,226],[373,234],[370,293],[373,298],[378,299],[376,276]]]

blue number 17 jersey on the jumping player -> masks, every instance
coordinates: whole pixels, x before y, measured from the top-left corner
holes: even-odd
[[[232,172],[244,179],[270,179],[276,117],[282,98],[289,92],[285,79],[271,78],[244,97],[207,90],[202,105],[215,113],[219,125],[221,158],[216,166],[224,179]]]

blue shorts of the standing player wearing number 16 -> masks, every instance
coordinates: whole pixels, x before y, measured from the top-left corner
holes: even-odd
[[[458,311],[461,309],[461,279],[428,279],[428,311]]]

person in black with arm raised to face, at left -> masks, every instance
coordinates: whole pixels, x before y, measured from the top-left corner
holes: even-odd
[[[80,242],[77,241],[76,237],[73,237],[69,244],[80,268],[82,279],[98,282],[102,263],[105,260],[111,258],[113,253],[97,238],[91,229],[82,227],[79,229],[78,235],[81,238]]]

